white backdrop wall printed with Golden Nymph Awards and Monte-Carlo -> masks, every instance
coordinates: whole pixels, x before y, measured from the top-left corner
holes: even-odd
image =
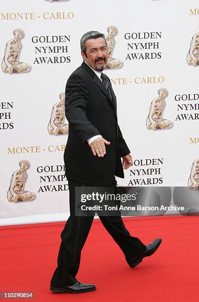
[[[5,46],[14,38],[13,30],[22,29],[23,47],[18,61],[31,65],[31,70],[11,74],[0,70],[0,225],[67,219],[68,182],[61,175],[64,175],[63,146],[68,135],[51,135],[47,126],[53,106],[60,101],[59,94],[65,91],[68,77],[82,62],[81,36],[90,30],[107,36],[107,28],[111,25],[118,29],[112,57],[122,60],[123,66],[107,69],[105,73],[112,79],[119,125],[135,163],[118,183],[123,186],[188,186],[192,164],[199,158],[199,117],[195,114],[199,113],[199,66],[187,63],[191,39],[199,32],[198,1],[133,0],[120,5],[113,0],[100,3],[90,0],[4,1],[0,11],[0,60],[7,58]],[[151,38],[143,38],[143,33],[149,33]],[[127,39],[132,34],[133,38]],[[50,42],[52,39],[57,41]],[[148,42],[159,42],[159,48],[136,50],[141,44],[133,44],[134,49],[128,46],[128,43],[143,43],[148,47],[145,44]],[[64,46],[62,50],[68,52],[48,53],[48,46],[51,49]],[[55,47],[54,51],[57,49]],[[152,52],[156,55],[151,55]],[[133,59],[132,53],[137,53],[138,57],[149,53],[149,58]],[[58,57],[58,62],[66,62],[50,63],[54,57]],[[44,60],[46,63],[41,63]],[[147,77],[155,78],[147,83]],[[135,83],[143,78],[143,83]],[[151,102],[158,98],[159,88],[168,90],[162,117],[172,121],[173,126],[149,130],[146,119]],[[194,95],[196,100],[193,100]],[[185,110],[184,104],[192,104],[192,110]],[[190,105],[187,108],[190,109]],[[181,114],[188,115],[182,120]],[[152,159],[156,159],[154,164]],[[14,186],[10,185],[11,176],[20,169],[21,160],[30,163],[23,189],[29,193],[22,193],[23,201],[8,201],[7,190]],[[138,175],[154,168],[160,168],[158,175],[150,175],[149,171],[149,175]],[[24,173],[20,173],[23,178]],[[30,197],[31,193],[35,198],[34,194]]]

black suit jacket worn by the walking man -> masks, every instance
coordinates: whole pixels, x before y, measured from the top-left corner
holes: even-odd
[[[112,98],[99,77],[83,62],[66,84],[66,176],[90,186],[110,186],[114,175],[123,178],[120,157],[130,152],[119,129],[116,96],[107,79]],[[98,134],[111,142],[106,145],[104,157],[94,156],[87,143],[87,139]]]

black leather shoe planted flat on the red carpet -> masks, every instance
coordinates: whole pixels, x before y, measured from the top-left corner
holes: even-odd
[[[50,286],[50,290],[54,293],[71,293],[71,294],[80,294],[80,293],[87,293],[96,290],[94,284],[85,284],[77,281],[73,285],[60,287]]]

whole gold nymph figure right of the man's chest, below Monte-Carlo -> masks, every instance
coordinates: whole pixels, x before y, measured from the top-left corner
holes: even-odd
[[[168,90],[166,88],[159,88],[159,97],[151,102],[149,109],[149,115],[147,117],[147,128],[156,129],[169,129],[173,126],[171,120],[162,118],[165,101],[164,98],[168,95]]]

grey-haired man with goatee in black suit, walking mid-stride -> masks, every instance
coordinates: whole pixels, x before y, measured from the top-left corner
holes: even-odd
[[[50,289],[58,293],[83,293],[96,289],[76,279],[80,253],[90,230],[93,216],[75,216],[75,188],[113,187],[115,175],[124,178],[123,169],[132,165],[130,151],[122,137],[117,119],[116,96],[110,79],[102,71],[108,60],[105,36],[91,31],[80,41],[83,63],[66,84],[66,117],[69,136],[64,153],[70,191],[70,217],[61,233],[57,268]],[[122,163],[121,163],[122,157]],[[99,214],[99,213],[98,213]],[[161,239],[144,245],[130,236],[121,216],[99,218],[124,253],[130,267],[151,256]]]

